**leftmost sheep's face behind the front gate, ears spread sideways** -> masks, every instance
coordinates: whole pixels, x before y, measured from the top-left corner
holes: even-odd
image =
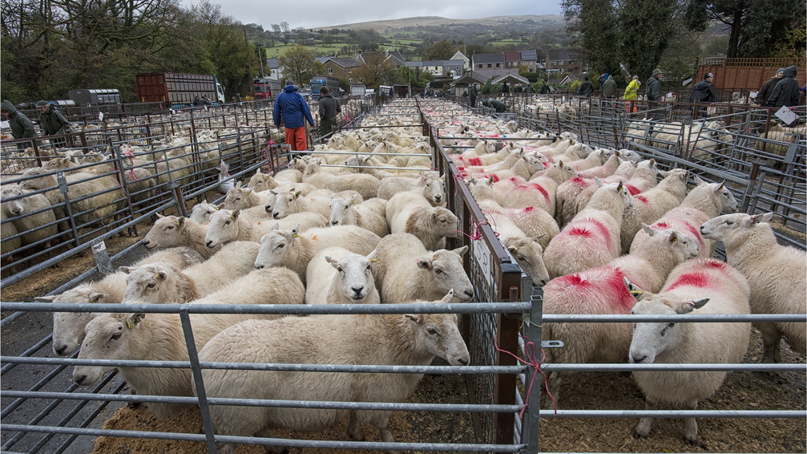
[[[94,292],[85,286],[71,288],[61,295],[37,297],[36,301],[54,303],[97,303],[105,295]],[[94,317],[89,312],[54,312],[53,313],[53,352],[60,356],[73,355],[84,340],[84,327]]]

